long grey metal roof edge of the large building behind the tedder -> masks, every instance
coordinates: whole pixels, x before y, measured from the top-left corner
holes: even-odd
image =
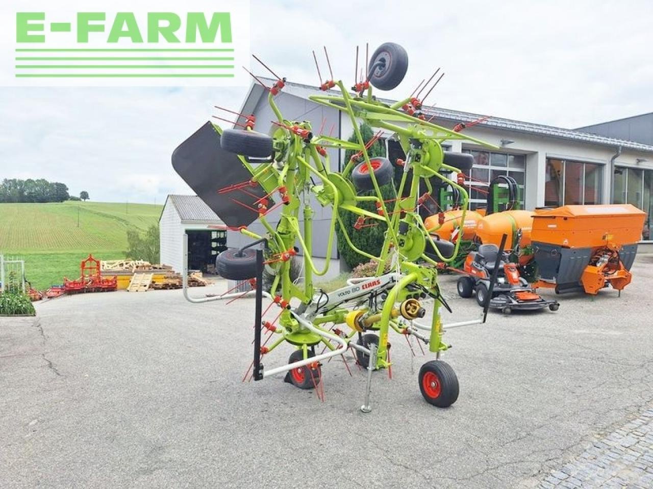
[[[261,80],[264,80],[264,82],[266,82],[266,85],[272,85],[276,81],[264,76],[260,76],[259,78]],[[286,82],[284,91],[286,93],[299,96],[301,98],[308,98],[308,96],[310,95],[325,94],[325,92],[321,91],[318,87],[314,87],[311,85],[304,85],[303,83],[295,83],[295,82]],[[339,91],[336,90],[329,90],[328,92],[333,93],[334,95],[340,93]],[[248,98],[251,95],[251,93],[253,93],[252,89],[250,89],[249,95],[247,95]],[[261,92],[261,93],[265,93],[265,92]],[[390,100],[387,98],[380,98],[380,97],[377,97],[377,100],[380,100],[381,102],[387,104],[392,104],[396,102],[396,100]],[[424,112],[424,114],[427,116],[434,115],[436,119],[445,119],[447,121],[453,121],[455,123],[477,121],[478,119],[481,119],[481,117],[484,117],[483,115],[480,114],[461,112],[458,110],[450,110],[450,109],[444,109],[444,108],[433,107],[433,106],[424,106],[422,108],[422,112]],[[581,132],[579,130],[574,130],[574,129],[565,129],[562,127],[546,126],[543,124],[514,121],[512,119],[503,119],[502,117],[489,117],[482,123],[479,123],[478,126],[486,127],[486,128],[510,130],[515,132],[526,132],[528,134],[540,134],[542,136],[549,136],[550,138],[558,138],[564,140],[579,141],[583,143],[599,144],[603,146],[611,146],[614,148],[621,146],[624,149],[633,149],[635,151],[653,153],[653,145],[637,143],[635,141],[606,138],[605,136],[590,134],[588,132]]]

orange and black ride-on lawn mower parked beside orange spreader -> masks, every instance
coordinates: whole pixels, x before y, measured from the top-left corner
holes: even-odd
[[[508,254],[500,252],[496,244],[481,244],[478,251],[471,252],[465,260],[464,271],[467,275],[458,278],[458,295],[471,297],[476,291],[476,301],[481,307],[485,307],[488,300],[490,308],[500,309],[503,314],[545,307],[556,311],[560,307],[557,301],[543,299],[535,293],[520,276],[517,263],[511,263]],[[493,275],[496,276],[494,284]]]

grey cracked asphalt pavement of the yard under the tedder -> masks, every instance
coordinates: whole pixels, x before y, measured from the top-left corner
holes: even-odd
[[[448,409],[419,392],[430,354],[390,336],[392,379],[375,372],[369,414],[351,356],[352,376],[341,359],[323,366],[324,401],[283,374],[242,382],[253,299],[118,291],[37,304],[37,318],[0,318],[0,486],[537,487],[653,408],[653,257],[633,272],[621,297],[565,295],[558,312],[492,312],[448,331],[442,359],[460,381]],[[479,317],[454,277],[442,284],[445,321]]]

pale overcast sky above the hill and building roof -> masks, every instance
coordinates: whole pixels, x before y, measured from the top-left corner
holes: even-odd
[[[317,84],[312,49],[326,45],[348,84],[356,44],[393,41],[410,61],[390,98],[441,67],[427,102],[443,108],[567,128],[653,111],[650,1],[350,0],[346,16],[312,3],[251,2],[251,51],[293,82]],[[246,91],[0,87],[0,179],[61,181],[97,201],[191,193],[170,154]]]

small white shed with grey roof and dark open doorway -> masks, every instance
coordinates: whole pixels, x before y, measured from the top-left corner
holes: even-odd
[[[227,228],[198,196],[169,195],[159,217],[161,263],[183,270],[183,235],[188,235],[188,268],[213,273],[215,256],[227,248]]]

